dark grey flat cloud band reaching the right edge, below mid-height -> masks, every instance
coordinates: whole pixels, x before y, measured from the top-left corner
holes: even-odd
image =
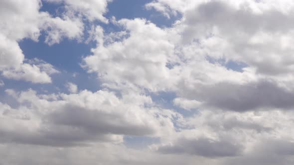
[[[260,81],[258,83],[235,84],[217,83],[213,85],[198,85],[197,89],[184,90],[188,98],[205,102],[225,110],[247,111],[256,108],[294,107],[294,92],[276,83]]]

